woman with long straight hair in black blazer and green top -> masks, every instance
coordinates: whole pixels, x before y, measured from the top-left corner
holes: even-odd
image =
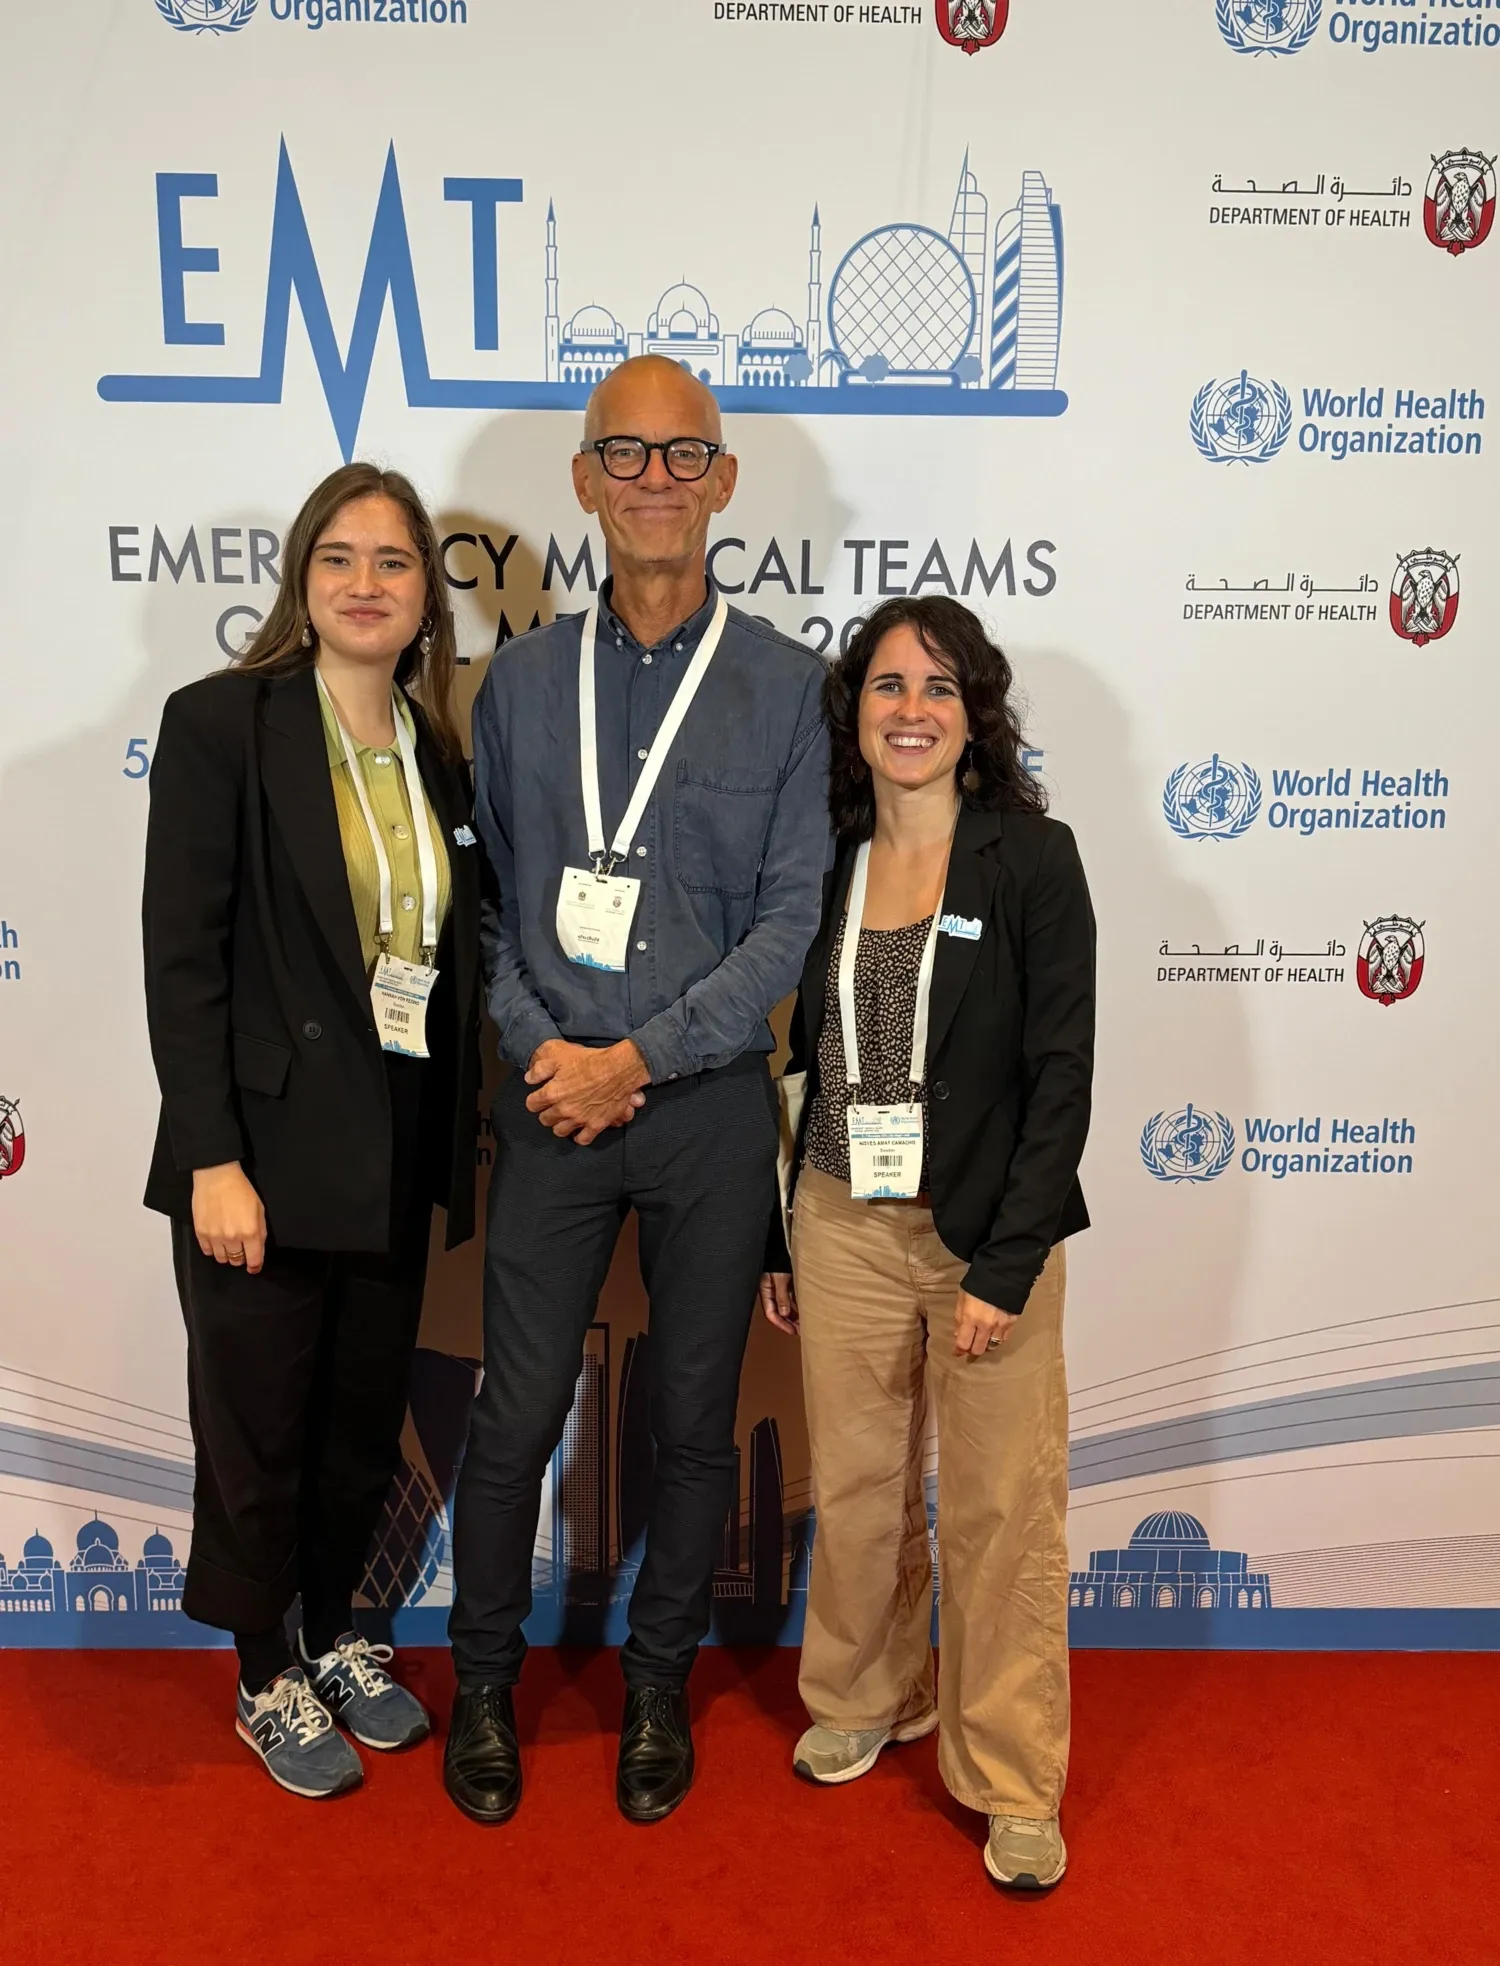
[[[234,1634],[281,1787],[429,1722],[352,1596],[399,1461],[433,1205],[474,1231],[480,869],[433,521],[348,464],[287,535],[246,653],[167,698],[145,836],[197,1478],[183,1608]],[[301,1594],[295,1649],[285,1616]]]

